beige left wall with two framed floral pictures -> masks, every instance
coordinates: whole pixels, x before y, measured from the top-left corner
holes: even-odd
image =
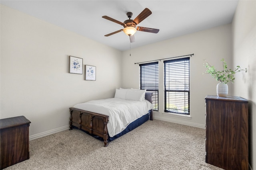
[[[31,138],[67,128],[69,107],[120,87],[120,51],[3,5],[0,43],[0,118],[24,115]],[[96,81],[68,73],[69,55],[96,66]]]

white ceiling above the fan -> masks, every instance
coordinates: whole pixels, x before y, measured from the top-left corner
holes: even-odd
[[[155,33],[137,31],[131,48],[155,43],[180,35],[231,23],[238,0],[1,0],[40,20],[58,25],[120,51],[130,48],[122,25],[102,18],[106,15],[123,22],[127,12],[134,19],[149,8],[152,14],[138,26],[160,29]]]

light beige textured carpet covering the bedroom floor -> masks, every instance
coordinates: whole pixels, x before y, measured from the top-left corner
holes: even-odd
[[[147,121],[109,143],[73,129],[30,141],[30,159],[6,170],[221,170],[205,162],[205,130]]]

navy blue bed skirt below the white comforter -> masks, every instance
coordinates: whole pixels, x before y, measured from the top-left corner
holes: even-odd
[[[126,134],[126,133],[128,133],[128,132],[130,132],[130,131],[132,131],[133,129],[135,129],[136,127],[139,127],[140,125],[142,125],[143,123],[145,123],[145,122],[148,121],[148,120],[149,120],[149,113],[147,113],[146,115],[144,115],[144,116],[142,116],[142,117],[136,119],[136,120],[133,121],[132,123],[130,123],[130,124],[126,127],[126,129],[124,129],[122,132],[118,133],[117,135],[115,135],[115,136],[113,136],[113,137],[108,137],[108,142],[113,141],[113,140],[115,140],[116,138],[118,138],[118,137],[120,137],[120,136],[122,136],[122,135],[124,135],[124,134]],[[74,127],[74,126],[73,126],[73,127]],[[75,127],[75,128],[77,128],[77,127]],[[81,129],[81,130],[82,130],[82,129]],[[84,130],[82,130],[82,131],[84,131]],[[89,134],[89,135],[91,135],[92,137],[94,137],[94,138],[100,140],[100,141],[104,141],[102,137],[99,137],[99,136],[90,134],[90,133],[87,132],[87,131],[84,131],[84,132],[87,133],[87,134]]]

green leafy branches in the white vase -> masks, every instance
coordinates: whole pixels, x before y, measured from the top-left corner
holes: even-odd
[[[213,78],[215,78],[217,81],[223,82],[225,84],[227,82],[233,83],[235,80],[234,74],[236,72],[246,71],[246,69],[244,70],[244,69],[240,68],[240,66],[236,66],[236,68],[234,70],[228,69],[226,61],[224,61],[224,59],[222,59],[221,61],[222,61],[222,66],[223,66],[223,70],[221,70],[221,71],[217,71],[216,68],[214,66],[211,66],[207,61],[206,61],[206,64],[204,64],[204,66],[206,68],[205,73],[211,74],[211,76]]]

